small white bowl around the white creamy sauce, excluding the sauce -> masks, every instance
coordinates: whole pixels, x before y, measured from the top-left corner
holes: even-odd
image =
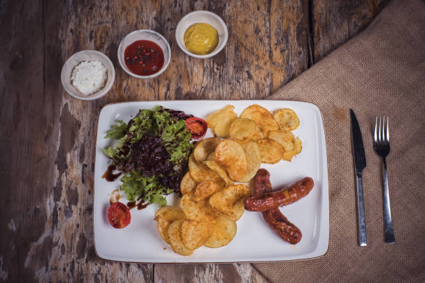
[[[78,92],[74,85],[72,85],[72,70],[76,65],[83,61],[99,61],[106,68],[108,78],[106,78],[105,86],[99,89],[97,92],[94,92],[94,94],[82,94],[81,92]],[[96,50],[83,50],[68,58],[67,62],[65,62],[62,67],[62,71],[60,72],[60,80],[62,80],[63,88],[68,94],[82,100],[94,100],[107,94],[113,87],[115,80],[115,68],[113,63],[110,62],[110,59],[105,54]]]

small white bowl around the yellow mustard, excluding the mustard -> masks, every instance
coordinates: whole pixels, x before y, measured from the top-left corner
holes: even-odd
[[[190,26],[192,26],[192,24],[197,24],[197,23],[210,24],[211,26],[213,26],[213,28],[217,30],[217,33],[219,34],[219,42],[217,44],[217,47],[215,47],[213,52],[209,54],[206,54],[206,55],[194,54],[188,51],[188,49],[186,48],[185,40],[184,40],[185,32]],[[185,15],[185,17],[183,17],[180,20],[180,22],[178,22],[177,28],[176,28],[176,41],[178,46],[180,47],[181,50],[183,50],[183,52],[185,52],[186,54],[194,58],[213,57],[214,55],[222,51],[224,45],[226,45],[227,38],[228,38],[228,32],[227,32],[226,24],[224,24],[224,21],[222,20],[221,17],[209,11],[200,10],[200,11],[190,12],[188,15]]]

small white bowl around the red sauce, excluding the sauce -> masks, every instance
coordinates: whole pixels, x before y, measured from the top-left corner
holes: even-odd
[[[130,71],[127,68],[125,63],[125,58],[124,58],[124,51],[126,51],[126,48],[128,45],[132,44],[133,42],[137,40],[150,40],[151,42],[155,42],[156,44],[158,44],[158,46],[160,46],[160,48],[163,49],[164,65],[157,73],[151,74],[149,76],[139,76],[134,74],[132,71]],[[171,49],[169,48],[169,44],[167,40],[165,40],[165,37],[163,37],[163,35],[161,35],[160,33],[157,33],[156,31],[151,31],[151,30],[133,31],[131,33],[128,33],[128,35],[126,35],[126,37],[122,39],[121,43],[118,46],[119,65],[121,65],[122,69],[124,69],[124,71],[126,71],[127,74],[135,78],[155,78],[156,76],[163,74],[165,69],[167,69],[170,60],[171,60]]]

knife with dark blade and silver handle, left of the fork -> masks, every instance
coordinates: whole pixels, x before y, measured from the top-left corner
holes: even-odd
[[[356,170],[356,196],[357,196],[357,223],[358,223],[358,244],[366,246],[366,221],[365,203],[363,199],[363,169],[366,168],[365,146],[363,146],[362,132],[354,114],[351,114],[351,140],[353,142],[354,169]]]

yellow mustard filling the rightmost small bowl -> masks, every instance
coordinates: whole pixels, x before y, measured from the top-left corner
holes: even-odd
[[[217,47],[218,33],[210,24],[192,24],[185,31],[184,40],[188,51],[197,55],[206,55]]]

